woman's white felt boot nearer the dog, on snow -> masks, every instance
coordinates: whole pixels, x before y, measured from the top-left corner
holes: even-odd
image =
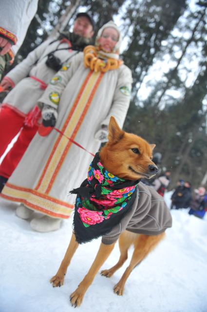
[[[33,230],[38,232],[51,232],[60,228],[61,219],[55,219],[48,216],[44,216],[40,219],[33,219],[30,222],[30,226]]]

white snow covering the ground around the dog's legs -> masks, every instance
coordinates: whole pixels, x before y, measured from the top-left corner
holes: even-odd
[[[170,192],[166,201],[170,205]],[[31,230],[15,215],[16,203],[0,199],[0,312],[74,311],[69,297],[91,266],[100,239],[79,246],[65,283],[49,283],[64,256],[72,233],[72,218],[50,233]],[[167,238],[134,270],[124,295],[113,293],[129,259],[111,278],[97,274],[85,294],[84,312],[207,312],[207,220],[172,210]],[[118,244],[103,265],[118,260]]]

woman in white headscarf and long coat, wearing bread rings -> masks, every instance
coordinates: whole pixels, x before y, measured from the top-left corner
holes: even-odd
[[[20,218],[33,218],[33,211],[43,215],[30,223],[36,231],[57,230],[70,217],[75,197],[68,193],[86,178],[93,159],[67,137],[95,153],[107,140],[110,117],[124,124],[132,73],[119,59],[120,44],[118,27],[108,22],[98,31],[95,46],[65,64],[39,99],[43,126],[56,126],[64,135],[40,128],[1,193],[21,203]]]

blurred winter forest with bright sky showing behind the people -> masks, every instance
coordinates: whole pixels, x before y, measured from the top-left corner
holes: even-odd
[[[39,0],[17,62],[88,11],[96,31],[109,20],[122,30],[121,57],[132,69],[124,129],[156,143],[161,170],[207,187],[207,1]]]

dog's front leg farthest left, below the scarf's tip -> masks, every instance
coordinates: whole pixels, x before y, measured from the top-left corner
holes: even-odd
[[[72,234],[70,244],[68,246],[68,249],[65,253],[65,256],[61,262],[61,265],[56,273],[55,276],[53,276],[50,280],[50,282],[53,284],[53,287],[62,286],[64,283],[64,276],[67,272],[67,268],[71,262],[71,259],[73,255],[75,254],[75,250],[78,247],[78,243],[75,241],[75,235]]]

